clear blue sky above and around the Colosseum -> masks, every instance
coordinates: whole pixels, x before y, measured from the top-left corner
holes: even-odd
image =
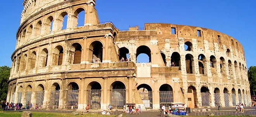
[[[2,0],[0,12],[0,66],[11,66],[23,0]],[[97,0],[100,22],[119,29],[144,23],[204,27],[237,39],[244,47],[247,68],[256,66],[256,0]]]

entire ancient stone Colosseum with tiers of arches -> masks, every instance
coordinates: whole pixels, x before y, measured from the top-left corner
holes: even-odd
[[[251,102],[244,49],[236,39],[175,24],[119,30],[99,22],[95,2],[23,1],[7,102],[78,110],[87,104],[157,110],[171,102],[190,108]],[[147,63],[137,61],[140,54]]]

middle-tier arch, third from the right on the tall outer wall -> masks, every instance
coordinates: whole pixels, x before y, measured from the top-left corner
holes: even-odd
[[[52,62],[53,66],[62,65],[62,60],[63,60],[63,47],[62,46],[56,46],[54,48],[54,53],[52,55],[52,58],[53,58],[53,62]]]

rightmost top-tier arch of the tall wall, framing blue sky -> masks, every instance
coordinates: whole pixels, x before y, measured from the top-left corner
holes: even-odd
[[[84,26],[85,25],[85,10],[83,8],[78,8],[74,12],[74,16],[76,16],[75,18],[77,20],[76,27]]]

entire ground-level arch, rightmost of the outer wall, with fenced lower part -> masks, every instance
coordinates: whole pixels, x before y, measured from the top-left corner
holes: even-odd
[[[111,84],[110,102],[112,102],[112,107],[114,109],[123,109],[123,105],[126,101],[125,95],[125,84],[121,81],[115,81]]]

